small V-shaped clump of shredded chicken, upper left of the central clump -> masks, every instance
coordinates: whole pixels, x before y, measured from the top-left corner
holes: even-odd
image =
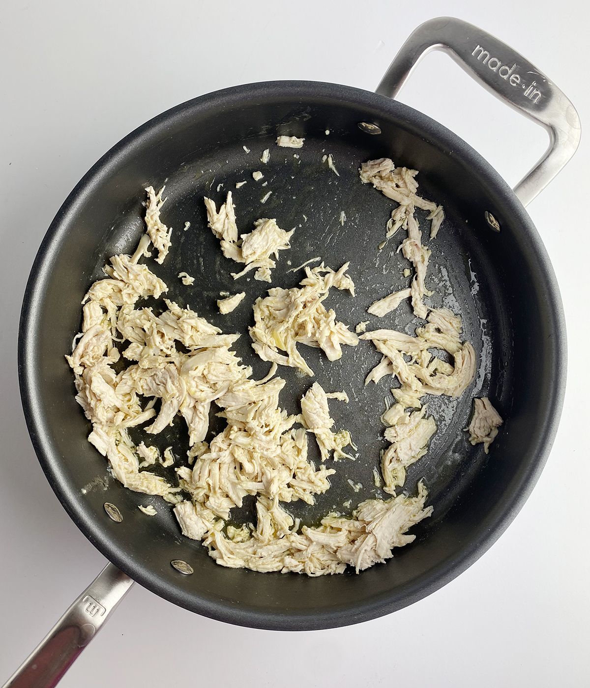
[[[269,192],[270,193],[270,192]],[[210,198],[204,199],[207,208],[209,227],[213,234],[221,239],[221,250],[226,258],[231,258],[236,263],[244,263],[242,272],[232,272],[233,279],[238,279],[246,272],[257,269],[255,279],[271,281],[270,269],[276,266],[275,259],[279,257],[279,251],[291,248],[289,239],[295,231],[282,230],[275,219],[266,217],[256,220],[254,230],[249,234],[240,235],[238,239],[238,226],[235,224],[235,208],[228,192],[226,202],[217,211],[215,202]]]

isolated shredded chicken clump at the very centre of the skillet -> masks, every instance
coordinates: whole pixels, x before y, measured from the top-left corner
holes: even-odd
[[[346,274],[347,269],[348,263],[338,272],[323,263],[313,269],[306,267],[302,288],[275,287],[268,290],[265,299],[256,299],[250,336],[253,349],[263,361],[296,367],[313,376],[313,370],[297,351],[297,342],[320,347],[330,361],[341,358],[341,344],[357,345],[357,335],[337,322],[335,312],[326,310],[323,303],[331,287],[355,295],[355,284]]]

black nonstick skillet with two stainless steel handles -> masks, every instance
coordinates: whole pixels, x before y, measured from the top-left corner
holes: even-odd
[[[549,131],[549,150],[514,191],[454,133],[392,100],[419,59],[435,49],[445,50],[496,96]],[[304,137],[304,147],[278,148],[275,139],[281,134]],[[103,156],[61,207],[34,262],[21,316],[19,375],[43,470],[74,522],[112,563],[7,685],[55,685],[132,581],[220,621],[311,630],[394,612],[476,561],[525,502],[560,416],[566,367],[562,305],[547,253],[524,206],[571,158],[579,138],[570,101],[525,58],[478,28],[443,17],[410,36],[376,94],[304,81],[225,89],[174,107]],[[266,148],[271,159],[264,165],[259,158]],[[322,162],[328,153],[339,176]],[[244,290],[251,303],[264,296],[268,285],[246,278],[233,282],[229,273],[235,264],[222,257],[207,229],[202,197],[219,204],[231,190],[244,232],[259,217],[276,217],[285,229],[295,227],[293,248],[282,253],[273,285],[295,286],[303,274],[292,268],[313,257],[333,268],[350,261],[357,297],[338,292],[326,303],[354,327],[368,318],[372,301],[405,286],[401,271],[407,264],[396,252],[400,239],[378,250],[392,203],[358,178],[361,162],[381,157],[418,169],[419,193],[445,208],[439,236],[430,242],[432,306],[447,305],[461,314],[465,338],[478,354],[476,380],[468,391],[452,403],[447,398],[430,403],[439,429],[428,454],[408,471],[405,489],[412,492],[423,478],[434,514],[412,529],[417,535],[412,544],[359,575],[347,571],[314,579],[222,568],[200,543],[182,537],[171,510],[156,497],[116,482],[87,442],[90,425],[74,400],[63,357],[80,329],[81,300],[103,277],[109,257],[135,248],[143,232],[145,186],[166,184],[162,218],[173,227],[173,246],[162,266],[147,264],[169,286],[168,298],[190,305],[224,332],[241,332],[236,350],[253,366],[254,376],[262,377],[268,364],[255,357],[249,344],[251,310],[220,316],[215,301],[222,291]],[[259,169],[264,180],[257,183],[251,173]],[[242,180],[247,184],[235,189]],[[262,188],[264,181],[268,185]],[[273,193],[262,204],[268,191]],[[425,213],[419,219],[427,230]],[[183,231],[187,221],[191,226]],[[183,270],[196,278],[193,286],[178,279]],[[412,332],[416,325],[409,308],[401,305],[370,329]],[[315,506],[289,505],[293,515],[311,524],[329,510],[346,513],[380,496],[372,469],[386,444],[379,415],[389,385],[381,380],[364,386],[368,370],[379,361],[370,343],[346,349],[334,363],[319,350],[304,347],[303,354],[314,379],[328,391],[348,392],[348,405],[330,408],[337,427],[350,430],[359,451],[355,462],[337,464],[332,487]],[[279,374],[287,380],[280,404],[296,412],[313,379],[293,369],[280,368]],[[463,431],[474,396],[489,396],[505,418],[489,455],[482,445],[472,447]],[[173,444],[176,455],[183,455],[186,435],[177,420],[156,442]],[[174,480],[173,472],[167,477]],[[348,479],[363,487],[352,491]],[[349,500],[351,506],[344,506]],[[158,504],[157,516],[147,518],[138,510],[138,504],[148,502]],[[251,520],[251,509],[246,504],[235,519]]]

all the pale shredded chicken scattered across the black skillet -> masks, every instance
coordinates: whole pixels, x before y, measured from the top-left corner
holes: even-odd
[[[277,139],[278,145],[286,147],[300,148],[303,143],[304,139],[295,137]],[[266,164],[268,155],[264,151],[261,162]],[[326,160],[338,174],[331,156]],[[343,572],[349,565],[359,572],[386,561],[395,547],[411,542],[415,536],[407,535],[408,529],[432,513],[432,507],[424,506],[427,491],[421,482],[414,497],[396,496],[396,488],[403,485],[407,467],[428,450],[436,431],[434,420],[426,416],[423,396],[462,394],[474,378],[476,360],[470,343],[461,341],[461,319],[444,308],[428,312],[423,304],[423,297],[430,293],[425,287],[430,250],[421,244],[414,207],[430,211],[431,238],[444,215],[440,206],[416,195],[415,174],[394,169],[388,160],[365,163],[361,170],[364,182],[372,182],[400,204],[392,213],[388,235],[400,226],[408,230],[400,250],[415,271],[412,286],[402,290],[403,296],[402,292],[390,294],[369,311],[381,316],[410,297],[414,312],[427,323],[417,328],[415,337],[394,330],[361,336],[371,339],[382,354],[366,382],[391,375],[398,378],[400,387],[392,389],[397,403],[381,417],[390,442],[381,458],[383,489],[392,499],[368,499],[351,517],[333,513],[317,527],[301,527],[299,519],[282,506],[297,500],[314,504],[315,496],[330,488],[328,478],[335,470],[327,467],[328,462],[354,460],[344,448],[356,447],[347,430],[333,431],[335,421],[328,408],[330,398],[348,402],[344,391],[326,394],[314,383],[302,397],[301,413],[289,415],[279,405],[285,381],[275,377],[277,364],[313,376],[297,342],[322,348],[330,361],[341,357],[342,344],[357,345],[357,335],[324,307],[332,287],[349,290],[354,297],[355,285],[346,274],[348,263],[337,272],[323,263],[306,267],[299,287],[272,288],[267,297],[257,299],[255,325],[250,328],[253,348],[262,360],[272,363],[262,380],[251,378],[251,368],[242,365],[231,350],[238,334],[224,334],[190,308],[167,299],[167,310],[158,315],[149,306],[136,308],[138,299],[157,299],[167,291],[165,283],[139,263],[149,255],[150,242],[158,250],[160,263],[170,247],[171,230],[160,221],[163,187],[157,195],[151,187],[147,189],[147,230],[134,255],[112,257],[105,267],[107,279],[94,283],[85,296],[82,332],[66,358],[74,371],[76,400],[92,422],[89,441],[105,455],[124,486],[174,504],[182,533],[202,540],[222,566],[317,576]],[[260,219],[251,233],[238,235],[231,193],[219,211],[212,200],[204,202],[209,227],[220,239],[222,252],[244,264],[242,272],[232,273],[234,279],[255,269],[255,279],[270,282],[271,268],[275,268],[271,255],[277,259],[279,250],[290,248],[293,230],[285,232],[275,219]],[[343,224],[345,219],[343,211]],[[193,281],[187,273],[179,277],[185,283]],[[245,292],[222,295],[227,298],[218,305],[220,312],[227,313],[244,299]],[[357,331],[364,332],[367,323],[359,323]],[[453,365],[433,356],[432,349],[446,350]],[[121,354],[127,367],[115,368]],[[485,413],[478,410],[477,402]],[[487,399],[476,400],[470,440],[484,442],[487,451],[502,420],[485,402],[489,404]],[[212,439],[207,438],[211,405],[226,420]],[[146,433],[158,434],[177,417],[182,417],[189,435],[185,461],[173,454],[172,447],[160,455],[157,447],[145,442],[136,446],[129,438],[129,427],[141,425]],[[319,447],[322,464],[318,469],[308,460],[308,434],[315,436]],[[169,469],[176,479],[151,472],[151,466]],[[381,486],[377,469],[373,475],[375,486]],[[355,492],[362,488],[350,479],[348,483]],[[241,507],[246,495],[256,499],[255,525],[227,524],[231,510]],[[350,508],[350,500],[346,504]],[[157,513],[151,505],[139,508],[147,515]]]

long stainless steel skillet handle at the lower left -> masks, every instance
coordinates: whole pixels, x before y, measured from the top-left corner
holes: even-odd
[[[53,688],[133,585],[112,563],[72,604],[3,688]]]

